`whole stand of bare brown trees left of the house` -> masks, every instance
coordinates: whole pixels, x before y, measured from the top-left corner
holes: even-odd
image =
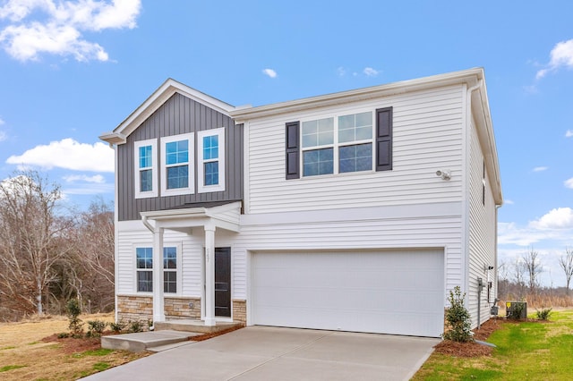
[[[114,211],[65,208],[61,187],[35,171],[0,182],[0,321],[114,308]]]

